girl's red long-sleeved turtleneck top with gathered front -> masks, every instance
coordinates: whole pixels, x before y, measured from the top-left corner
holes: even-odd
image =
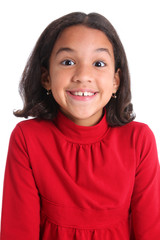
[[[54,122],[20,122],[8,150],[1,240],[160,240],[159,178],[145,124],[109,127],[104,116],[83,127],[61,112]]]

